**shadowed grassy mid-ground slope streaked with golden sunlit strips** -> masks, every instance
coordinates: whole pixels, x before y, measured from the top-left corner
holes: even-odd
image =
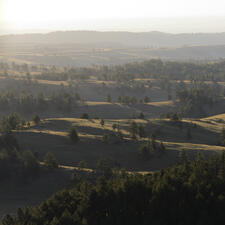
[[[17,132],[16,135],[24,148],[37,151],[42,157],[46,152],[53,152],[60,164],[76,166],[80,160],[85,160],[90,168],[94,168],[99,158],[104,157],[118,162],[128,170],[155,170],[165,168],[176,161],[177,152],[189,150],[219,151],[225,150],[217,146],[223,121],[210,122],[207,118],[201,120],[184,120],[182,129],[169,120],[149,119],[135,120],[146,126],[147,133],[156,133],[157,139],[165,143],[168,152],[162,158],[151,159],[143,162],[138,158],[138,147],[147,141],[139,139],[132,141],[129,137],[128,126],[131,120],[105,120],[105,125],[100,125],[100,120],[76,118],[50,118],[45,119],[39,126],[32,126],[27,130]],[[125,140],[120,144],[103,143],[104,133],[112,133],[112,124],[119,123],[120,131]],[[194,124],[197,125],[194,128]],[[73,145],[67,138],[70,126],[76,126],[80,142]],[[192,139],[187,139],[187,129],[191,127]]]

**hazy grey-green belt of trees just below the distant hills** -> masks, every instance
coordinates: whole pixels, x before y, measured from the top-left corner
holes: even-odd
[[[129,81],[135,78],[168,78],[171,80],[204,80],[204,81],[224,81],[225,61],[212,63],[188,63],[162,61],[151,59],[145,62],[134,62],[114,66],[93,66],[64,68],[63,70],[55,66],[29,66],[27,64],[12,65],[0,63],[0,69],[7,73],[7,70],[39,72],[35,75],[38,79],[44,80],[76,80],[89,79],[91,76],[105,81]]]

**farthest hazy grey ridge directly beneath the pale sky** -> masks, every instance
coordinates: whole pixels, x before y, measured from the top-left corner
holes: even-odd
[[[0,36],[3,43],[111,43],[137,47],[178,47],[193,45],[225,45],[225,33],[169,34],[162,32],[98,32],[57,31],[47,34],[23,34]]]

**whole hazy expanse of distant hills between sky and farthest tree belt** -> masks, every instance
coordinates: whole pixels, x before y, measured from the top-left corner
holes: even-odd
[[[0,61],[59,66],[123,64],[152,58],[220,60],[225,33],[57,31],[0,36]]]

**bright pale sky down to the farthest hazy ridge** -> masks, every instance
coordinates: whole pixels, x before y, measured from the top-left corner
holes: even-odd
[[[3,30],[225,31],[225,0],[0,0]]]

